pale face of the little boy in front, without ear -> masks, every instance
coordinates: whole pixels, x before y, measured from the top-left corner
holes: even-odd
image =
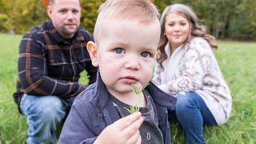
[[[131,83],[150,81],[160,24],[104,20],[98,39],[98,67],[110,94],[131,93]]]

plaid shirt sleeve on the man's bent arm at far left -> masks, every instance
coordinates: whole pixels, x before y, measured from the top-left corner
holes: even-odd
[[[26,34],[19,45],[18,79],[23,92],[37,96],[57,95],[62,98],[76,96],[85,89],[80,83],[47,76],[43,43],[36,35]]]

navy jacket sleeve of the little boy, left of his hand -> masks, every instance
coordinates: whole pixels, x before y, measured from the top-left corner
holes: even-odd
[[[94,134],[93,121],[86,110],[84,103],[76,98],[66,118],[62,133],[58,140],[59,144],[70,143],[94,143],[98,136]]]

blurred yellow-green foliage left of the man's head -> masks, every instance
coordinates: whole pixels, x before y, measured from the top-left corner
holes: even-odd
[[[47,19],[37,0],[0,0],[0,31],[23,34]]]

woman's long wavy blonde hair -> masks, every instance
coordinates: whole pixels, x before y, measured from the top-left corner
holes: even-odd
[[[186,42],[190,42],[192,38],[201,37],[206,39],[207,42],[209,42],[213,50],[217,50],[218,46],[215,43],[214,36],[210,34],[206,34],[206,26],[198,24],[198,17],[189,6],[179,4],[179,3],[167,6],[166,9],[163,10],[162,16],[160,18],[161,36],[158,44],[157,61],[160,64],[162,69],[163,69],[162,62],[164,62],[167,58],[167,54],[165,51],[165,46],[166,46],[166,43],[168,42],[168,39],[166,38],[166,35],[165,35],[166,15],[170,13],[180,14],[182,15],[182,17],[186,18],[190,23],[190,35],[186,39]]]

